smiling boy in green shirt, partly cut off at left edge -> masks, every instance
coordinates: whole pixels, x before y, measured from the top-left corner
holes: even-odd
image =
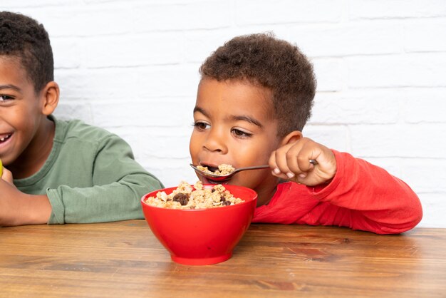
[[[0,226],[144,218],[140,198],[162,188],[117,135],[51,115],[48,33],[35,20],[0,12]]]

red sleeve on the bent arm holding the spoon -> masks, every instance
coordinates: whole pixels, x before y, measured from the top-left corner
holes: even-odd
[[[299,223],[397,234],[420,222],[420,200],[407,184],[365,160],[333,152],[336,175],[326,187],[307,187],[320,203]]]

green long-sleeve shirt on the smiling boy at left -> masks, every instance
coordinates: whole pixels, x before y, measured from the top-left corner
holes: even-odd
[[[80,120],[56,124],[53,149],[38,173],[14,180],[19,190],[48,195],[50,224],[144,218],[140,199],[162,188],[123,139]]]

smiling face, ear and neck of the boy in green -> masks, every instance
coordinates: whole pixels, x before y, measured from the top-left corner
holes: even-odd
[[[0,158],[10,169],[34,173],[51,151],[52,124],[46,115],[53,110],[46,106],[45,94],[45,88],[34,91],[19,58],[0,56]],[[20,176],[14,173],[14,178]]]

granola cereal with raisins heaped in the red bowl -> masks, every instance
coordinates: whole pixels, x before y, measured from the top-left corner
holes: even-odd
[[[183,181],[170,195],[160,191],[155,197],[147,197],[145,202],[151,206],[170,209],[207,209],[235,205],[244,200],[234,197],[221,184],[204,188],[201,181],[193,187]]]

